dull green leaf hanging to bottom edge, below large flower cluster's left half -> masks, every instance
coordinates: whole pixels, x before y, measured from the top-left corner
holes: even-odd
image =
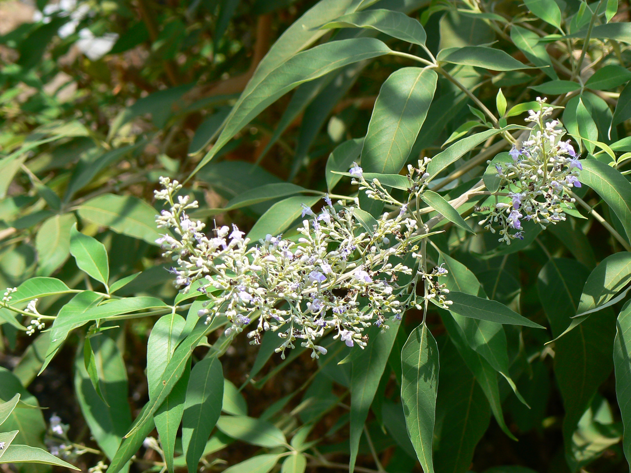
[[[189,473],[198,469],[206,441],[221,414],[223,369],[216,356],[206,356],[191,370],[182,416],[182,448]]]

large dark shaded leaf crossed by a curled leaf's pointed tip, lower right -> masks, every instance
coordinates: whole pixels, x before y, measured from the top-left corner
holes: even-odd
[[[537,290],[553,336],[560,336],[569,325],[570,317],[576,313],[581,284],[587,279],[588,272],[575,260],[557,258],[549,260],[541,269]],[[565,457],[572,470],[582,465],[581,451],[576,450],[572,436],[593,395],[609,377],[612,368],[615,317],[611,310],[605,311],[555,341],[555,375],[565,408]]]

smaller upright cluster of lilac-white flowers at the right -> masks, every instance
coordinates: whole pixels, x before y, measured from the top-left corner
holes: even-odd
[[[513,162],[505,166],[495,165],[497,177],[501,178],[500,190],[509,190],[508,202],[500,202],[495,195],[495,206],[479,225],[495,233],[493,223],[502,226],[500,242],[510,245],[514,238],[523,239],[521,219],[534,220],[546,225],[565,220],[564,207],[575,199],[565,192],[572,187],[581,187],[578,180],[581,162],[570,144],[561,141],[565,129],[558,120],[546,122],[553,108],[545,106],[545,98],[537,98],[541,109],[530,110],[526,122],[533,122],[528,141],[523,147],[510,150]],[[490,161],[488,161],[490,162]],[[517,230],[509,233],[510,229]]]

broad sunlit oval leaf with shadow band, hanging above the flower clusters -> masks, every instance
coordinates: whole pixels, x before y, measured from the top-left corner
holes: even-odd
[[[399,173],[423,126],[437,78],[432,69],[402,67],[386,79],[363,141],[365,172]]]

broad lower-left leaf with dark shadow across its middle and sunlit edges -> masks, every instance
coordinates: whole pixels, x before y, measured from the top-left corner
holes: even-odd
[[[129,429],[131,412],[127,403],[127,368],[116,343],[108,335],[100,334],[86,340],[84,345],[90,353],[92,349],[87,342],[94,347],[93,373],[86,370],[78,351],[74,361],[74,392],[91,435],[111,460]]]

